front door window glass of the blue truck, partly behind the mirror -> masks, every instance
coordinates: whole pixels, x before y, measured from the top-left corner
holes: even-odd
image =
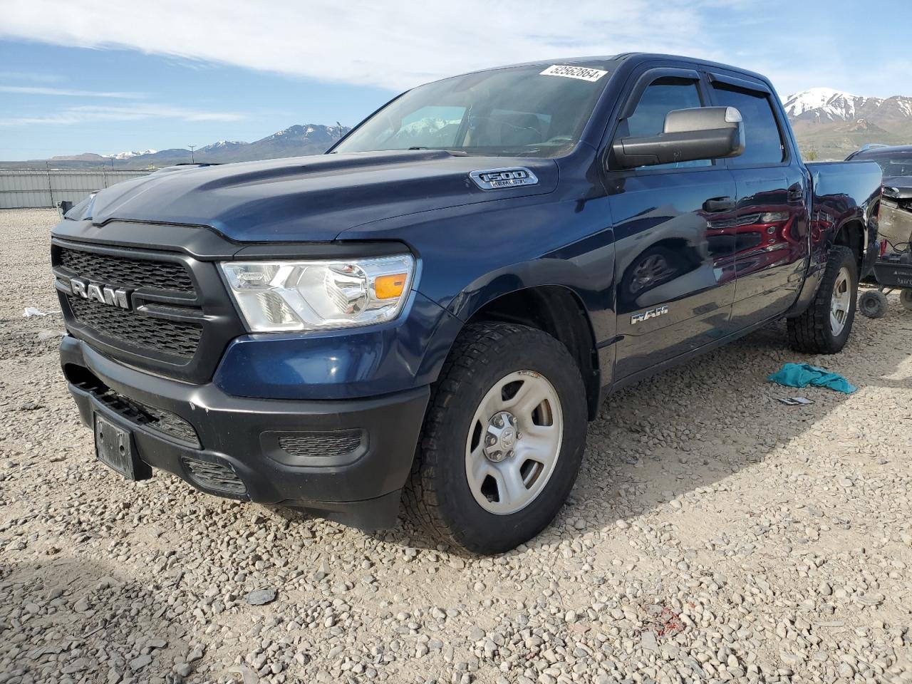
[[[665,130],[665,116],[675,109],[702,107],[697,82],[687,78],[657,78],[643,91],[627,119],[617,130],[619,138],[648,138]],[[671,164],[656,164],[642,167],[648,169],[680,169],[691,166],[711,166],[710,160],[681,161]]]

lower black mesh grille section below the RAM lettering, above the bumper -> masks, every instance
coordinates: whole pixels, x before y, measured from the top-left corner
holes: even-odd
[[[67,295],[67,302],[79,323],[126,345],[192,358],[200,344],[202,326],[194,323],[144,316],[72,295]]]

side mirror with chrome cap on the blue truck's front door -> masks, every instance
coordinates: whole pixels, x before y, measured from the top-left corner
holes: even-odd
[[[734,107],[676,109],[668,112],[657,136],[622,138],[612,151],[624,169],[737,157],[744,151],[744,122]]]

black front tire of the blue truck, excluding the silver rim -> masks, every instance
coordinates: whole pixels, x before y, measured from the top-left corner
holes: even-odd
[[[525,508],[499,515],[475,500],[465,471],[472,417],[501,378],[531,370],[554,387],[564,435],[554,471]],[[499,554],[541,532],[565,503],[586,446],[586,390],[567,348],[533,327],[479,323],[466,326],[431,388],[418,453],[403,507],[441,540],[476,554]]]

